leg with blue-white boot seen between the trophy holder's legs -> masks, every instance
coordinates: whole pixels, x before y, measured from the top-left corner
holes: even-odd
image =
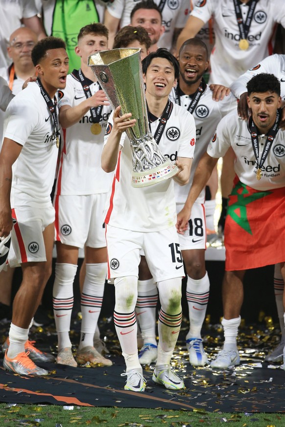
[[[138,300],[136,304],[136,315],[139,323],[143,346],[139,353],[141,364],[150,364],[157,360],[156,342],[156,306],[158,301],[158,290],[153,283],[145,256],[141,256],[139,265]]]

